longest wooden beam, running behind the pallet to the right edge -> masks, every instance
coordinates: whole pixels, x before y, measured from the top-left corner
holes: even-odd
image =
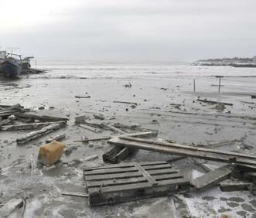
[[[153,152],[162,152],[172,155],[185,155],[193,158],[203,158],[217,162],[256,165],[256,157],[250,155],[242,155],[235,152],[222,152],[208,148],[195,148],[187,145],[178,145],[174,143],[146,140],[142,138],[120,136],[119,138],[111,138],[108,143],[111,145],[125,146],[128,148],[140,148]]]

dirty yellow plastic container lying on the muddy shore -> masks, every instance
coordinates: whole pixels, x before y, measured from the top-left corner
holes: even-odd
[[[39,149],[38,161],[44,165],[52,165],[60,160],[65,146],[60,141],[51,141]]]

